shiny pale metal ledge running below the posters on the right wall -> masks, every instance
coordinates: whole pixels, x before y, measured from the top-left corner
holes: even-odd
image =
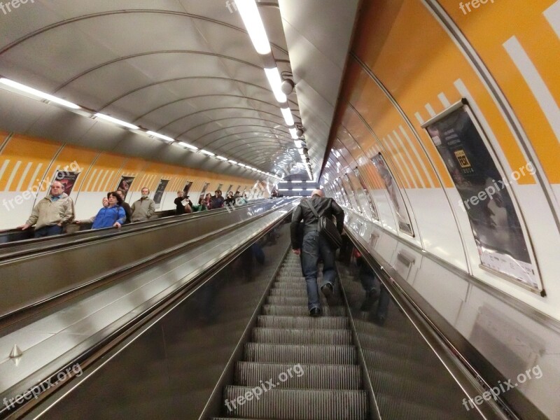
[[[499,396],[520,418],[560,418],[557,322],[461,275],[351,211],[346,227],[467,358],[489,388],[511,380],[512,388],[505,387]],[[361,293],[363,297],[365,292]],[[374,319],[374,315],[368,317]],[[386,323],[389,321],[390,316]],[[526,378],[528,374],[531,379]]]

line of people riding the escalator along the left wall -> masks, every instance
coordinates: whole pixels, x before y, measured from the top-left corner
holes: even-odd
[[[248,202],[246,195],[241,195],[239,191],[236,191],[235,194],[229,191],[225,199],[221,190],[216,190],[214,194],[201,195],[198,204],[193,204],[188,195],[185,195],[183,191],[178,191],[177,198],[174,200],[176,214],[220,209],[225,206],[240,206]],[[147,187],[141,189],[141,197],[132,205],[125,202],[125,193],[122,190],[116,190],[107,193],[106,197],[102,198],[102,208],[95,216],[76,221],[74,220],[75,215],[73,200],[64,193],[62,183],[54,181],[50,185],[48,195],[36,204],[31,211],[31,216],[23,225],[18,226],[18,229],[26,230],[34,226],[34,236],[39,238],[60,235],[64,232],[64,228],[71,223],[78,225],[92,223],[92,229],[120,228],[126,223],[143,222],[153,218],[155,202],[150,198],[150,189]]]

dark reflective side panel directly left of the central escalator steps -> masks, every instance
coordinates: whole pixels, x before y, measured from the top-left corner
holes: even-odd
[[[198,419],[283,258],[288,225],[277,233],[244,251],[98,370],[85,372],[48,411],[39,407],[25,418]],[[209,253],[216,254],[203,255]]]

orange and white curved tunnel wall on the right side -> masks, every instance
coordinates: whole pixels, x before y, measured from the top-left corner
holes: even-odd
[[[560,1],[472,3],[363,1],[321,183],[403,241],[560,319]],[[465,186],[425,128],[461,101],[486,148],[466,165],[490,156],[511,198],[508,207],[486,195],[469,210],[486,212],[491,240],[524,239],[533,286],[482,264]],[[397,188],[386,188],[378,153]],[[517,236],[507,229],[515,216]]]

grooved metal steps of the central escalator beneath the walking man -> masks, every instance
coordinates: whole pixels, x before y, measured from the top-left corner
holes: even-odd
[[[367,419],[367,392],[346,309],[340,296],[329,303],[321,297],[323,316],[309,316],[300,260],[288,254],[245,345],[244,360],[237,362],[235,384],[225,387],[225,415]]]

